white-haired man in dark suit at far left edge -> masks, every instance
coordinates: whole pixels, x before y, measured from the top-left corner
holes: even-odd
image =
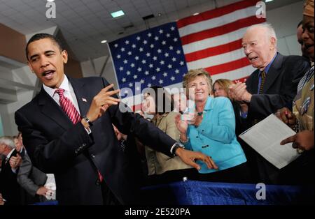
[[[3,199],[6,199],[6,205],[22,204],[21,189],[16,180],[22,158],[15,150],[13,137],[0,137],[0,156],[2,155],[5,158],[1,165],[0,193],[2,193]]]

